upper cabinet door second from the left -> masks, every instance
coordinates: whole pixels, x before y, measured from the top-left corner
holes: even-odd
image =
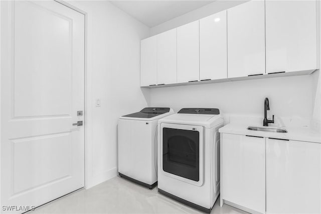
[[[157,85],[177,83],[177,29],[157,35]]]

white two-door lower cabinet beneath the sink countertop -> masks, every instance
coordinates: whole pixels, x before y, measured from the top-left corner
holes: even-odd
[[[321,213],[321,143],[221,135],[221,205]]]

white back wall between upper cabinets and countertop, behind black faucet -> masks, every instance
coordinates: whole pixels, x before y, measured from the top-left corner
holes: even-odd
[[[318,73],[318,72],[317,72]],[[276,121],[304,120],[310,125],[314,109],[315,79],[318,74],[224,82],[204,85],[154,88],[150,91],[151,106],[181,108],[219,108],[229,122],[231,115],[262,117],[264,98],[270,101],[269,114]],[[281,123],[282,124],[282,123]]]

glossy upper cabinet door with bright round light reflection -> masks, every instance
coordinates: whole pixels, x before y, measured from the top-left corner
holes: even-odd
[[[200,20],[200,80],[227,78],[226,11]]]

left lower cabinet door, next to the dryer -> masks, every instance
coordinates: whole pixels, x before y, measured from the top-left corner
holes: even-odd
[[[222,134],[224,200],[265,212],[265,139]]]

